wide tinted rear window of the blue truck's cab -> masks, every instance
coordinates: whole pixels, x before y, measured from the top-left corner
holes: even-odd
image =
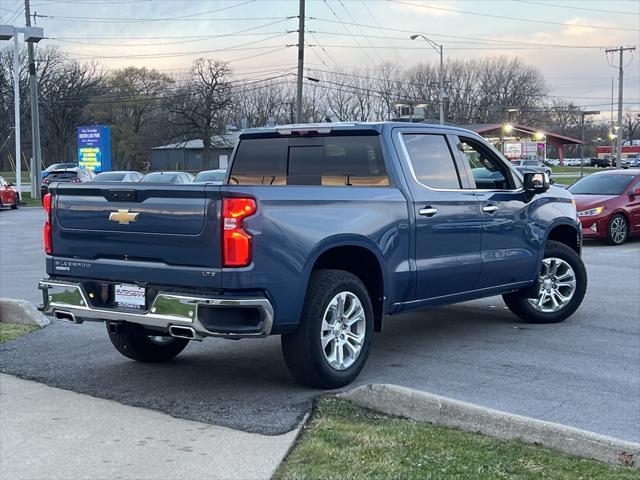
[[[240,141],[230,184],[385,186],[377,136],[263,138]]]

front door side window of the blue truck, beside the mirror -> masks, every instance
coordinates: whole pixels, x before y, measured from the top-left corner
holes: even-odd
[[[521,186],[509,167],[482,143],[459,137],[458,150],[469,164],[475,188],[480,190],[513,190]]]

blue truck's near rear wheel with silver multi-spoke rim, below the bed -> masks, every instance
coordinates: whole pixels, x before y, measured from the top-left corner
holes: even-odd
[[[340,310],[344,313],[340,318],[332,314]],[[362,371],[372,334],[373,307],[362,281],[342,270],[317,270],[307,287],[300,325],[282,336],[282,352],[287,367],[301,383],[340,388]]]

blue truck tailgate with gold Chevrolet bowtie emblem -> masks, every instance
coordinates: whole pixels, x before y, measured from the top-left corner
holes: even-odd
[[[220,187],[57,184],[52,270],[57,276],[216,288]]]

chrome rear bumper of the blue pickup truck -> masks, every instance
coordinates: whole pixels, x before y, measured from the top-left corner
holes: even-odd
[[[273,327],[273,307],[264,297],[191,296],[161,290],[147,309],[134,311],[95,306],[81,282],[44,279],[38,288],[43,297],[39,310],[75,323],[128,322],[163,332],[186,327],[194,340],[266,337]]]

